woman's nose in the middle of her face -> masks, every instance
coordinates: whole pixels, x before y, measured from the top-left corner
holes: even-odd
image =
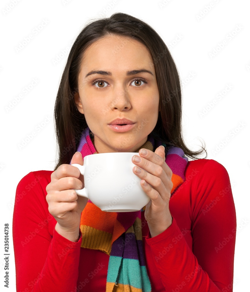
[[[113,98],[110,102],[110,108],[112,110],[117,109],[119,111],[129,110],[131,108],[131,100],[128,91],[124,88],[116,89],[113,92]]]

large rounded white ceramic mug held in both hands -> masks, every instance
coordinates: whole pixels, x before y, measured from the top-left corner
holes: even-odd
[[[102,211],[132,212],[143,208],[150,198],[132,171],[132,157],[138,152],[109,152],[86,155],[76,166],[84,176],[84,188],[76,190]]]

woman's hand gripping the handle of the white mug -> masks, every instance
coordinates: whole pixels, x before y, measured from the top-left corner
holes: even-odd
[[[83,165],[80,152],[76,152],[71,164]],[[78,241],[81,212],[88,199],[78,196],[74,189],[84,187],[84,177],[79,169],[70,164],[60,165],[51,173],[51,182],[46,187],[48,211],[57,221],[55,230],[71,241]]]

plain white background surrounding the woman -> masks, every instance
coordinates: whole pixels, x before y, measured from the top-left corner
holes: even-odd
[[[247,5],[248,1],[244,0],[1,1],[1,291],[5,291],[4,223],[11,226],[8,291],[15,291],[12,216],[16,186],[30,171],[53,170],[55,166],[53,109],[69,50],[87,22],[104,14],[109,17],[117,11],[151,25],[172,53],[183,84],[185,141],[195,150],[204,141],[207,159],[225,166],[230,177],[238,226],[234,291],[249,287],[250,21]],[[44,20],[48,22],[46,25]],[[42,24],[43,29],[34,34],[33,29]],[[30,34],[33,38],[17,52],[20,42]],[[223,41],[224,46],[220,48],[218,44]],[[53,64],[56,58],[58,62]],[[23,89],[33,79],[37,79],[36,85],[24,94]],[[225,91],[228,85],[231,89]],[[219,99],[218,94],[223,90],[226,94]],[[23,98],[15,102],[20,94]],[[36,130],[48,118],[51,120],[40,131]],[[36,135],[20,149],[18,144],[34,131]],[[243,220],[248,222],[245,226]]]

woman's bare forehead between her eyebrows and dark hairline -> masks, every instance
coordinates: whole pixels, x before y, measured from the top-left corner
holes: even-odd
[[[107,36],[95,41],[84,52],[80,74],[93,69],[125,72],[136,67],[154,71],[148,48],[139,41],[124,36]]]

